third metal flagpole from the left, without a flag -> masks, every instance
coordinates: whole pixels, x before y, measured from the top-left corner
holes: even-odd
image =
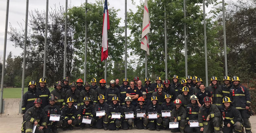
[[[47,45],[47,29],[48,29],[48,5],[49,0],[46,0],[46,25],[44,32],[44,69],[43,69],[43,77],[46,77],[46,45]]]

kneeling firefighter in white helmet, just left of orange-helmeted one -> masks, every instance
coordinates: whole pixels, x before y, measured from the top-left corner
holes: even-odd
[[[125,113],[133,112],[133,114],[134,114],[135,107],[132,105],[132,98],[130,98],[129,96],[126,97],[125,102],[126,103],[122,106],[122,108],[123,108],[122,127],[124,130],[128,130],[128,129],[132,129],[132,127],[133,127],[133,121],[134,121],[135,115],[133,116],[133,118],[126,118]]]

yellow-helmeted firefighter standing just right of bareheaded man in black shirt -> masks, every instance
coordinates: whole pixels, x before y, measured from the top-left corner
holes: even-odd
[[[217,106],[222,105],[222,88],[218,85],[218,79],[215,76],[211,77],[211,86],[207,86],[209,92],[212,94],[212,104]]]

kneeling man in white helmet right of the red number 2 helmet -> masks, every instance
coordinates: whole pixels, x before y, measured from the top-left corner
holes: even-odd
[[[200,107],[197,104],[197,97],[192,95],[190,97],[191,103],[185,108],[186,110],[186,120],[187,126],[185,127],[186,133],[201,133],[200,127],[190,127],[190,120],[198,120],[198,112]]]

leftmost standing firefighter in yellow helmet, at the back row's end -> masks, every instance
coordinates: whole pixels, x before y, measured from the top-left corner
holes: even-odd
[[[25,112],[34,106],[34,100],[39,98],[39,96],[36,93],[36,81],[30,81],[28,84],[28,91],[23,94],[23,101],[22,101],[22,114],[25,114]],[[23,115],[24,119],[24,115]]]

